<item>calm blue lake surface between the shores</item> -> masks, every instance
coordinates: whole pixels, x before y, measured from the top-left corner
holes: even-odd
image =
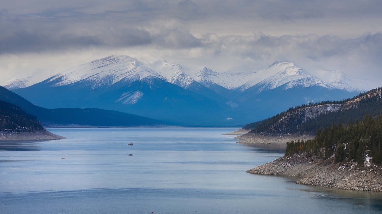
[[[0,143],[0,213],[382,212],[380,193],[246,173],[285,147],[222,135],[233,130],[49,129],[66,139]]]

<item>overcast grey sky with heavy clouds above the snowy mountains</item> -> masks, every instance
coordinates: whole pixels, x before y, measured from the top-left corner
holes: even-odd
[[[380,0],[13,0],[0,8],[0,83],[109,55],[214,71],[274,61],[382,85]]]

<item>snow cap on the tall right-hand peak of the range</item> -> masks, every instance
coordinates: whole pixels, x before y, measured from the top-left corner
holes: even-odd
[[[321,79],[312,74],[309,74],[302,68],[299,68],[294,63],[277,61],[271,64],[268,68],[259,71],[261,75],[259,77],[264,77],[269,74],[273,74],[264,80],[253,79],[249,80],[243,84],[239,89],[244,91],[249,87],[257,85],[259,87],[258,93],[263,90],[270,90],[281,85],[286,84],[285,89],[293,87],[311,87],[311,86],[321,86],[325,88],[334,88],[332,85],[325,83]],[[260,80],[260,81],[259,81]]]

